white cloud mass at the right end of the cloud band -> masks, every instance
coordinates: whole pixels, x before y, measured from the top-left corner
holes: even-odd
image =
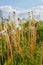
[[[32,10],[37,19],[43,20],[43,6],[33,7]]]

